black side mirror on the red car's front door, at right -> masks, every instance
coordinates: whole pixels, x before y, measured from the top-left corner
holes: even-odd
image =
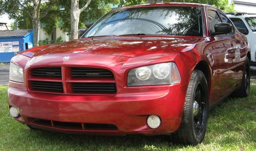
[[[232,31],[232,28],[229,23],[218,23],[214,26],[215,32],[211,33],[211,35],[228,34]]]

